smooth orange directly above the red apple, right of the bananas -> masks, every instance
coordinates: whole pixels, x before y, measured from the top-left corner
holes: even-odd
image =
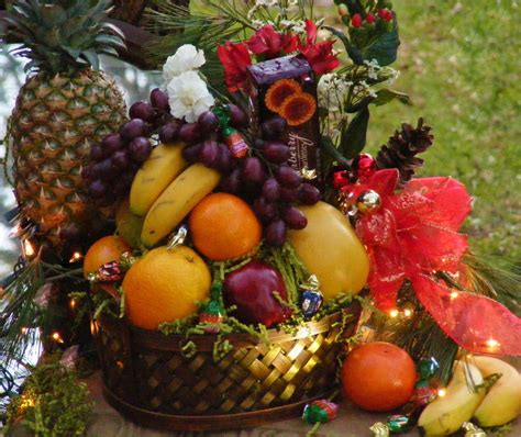
[[[228,193],[204,198],[190,213],[188,224],[196,248],[214,261],[247,255],[260,243],[263,234],[248,204]]]

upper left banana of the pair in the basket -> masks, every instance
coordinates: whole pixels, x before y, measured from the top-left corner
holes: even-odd
[[[145,215],[159,194],[188,167],[182,158],[184,143],[159,144],[134,177],[130,208],[135,215]]]

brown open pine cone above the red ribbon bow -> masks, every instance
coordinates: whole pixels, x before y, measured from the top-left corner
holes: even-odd
[[[381,146],[376,163],[378,168],[398,168],[400,184],[403,186],[414,175],[417,167],[423,166],[423,159],[415,155],[425,152],[434,139],[430,134],[431,126],[423,125],[423,119],[418,119],[418,126],[403,123],[401,131],[389,137],[387,145]]]

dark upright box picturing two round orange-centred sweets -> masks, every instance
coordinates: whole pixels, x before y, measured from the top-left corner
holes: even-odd
[[[290,149],[288,164],[297,171],[320,172],[320,124],[317,80],[309,63],[286,56],[247,67],[246,93],[254,123],[279,115],[288,123],[284,138]]]

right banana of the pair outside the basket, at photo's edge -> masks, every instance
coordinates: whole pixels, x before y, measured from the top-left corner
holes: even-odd
[[[474,412],[479,426],[499,426],[514,419],[521,413],[521,376],[509,363],[492,357],[474,357],[474,363],[484,377],[500,373]]]

